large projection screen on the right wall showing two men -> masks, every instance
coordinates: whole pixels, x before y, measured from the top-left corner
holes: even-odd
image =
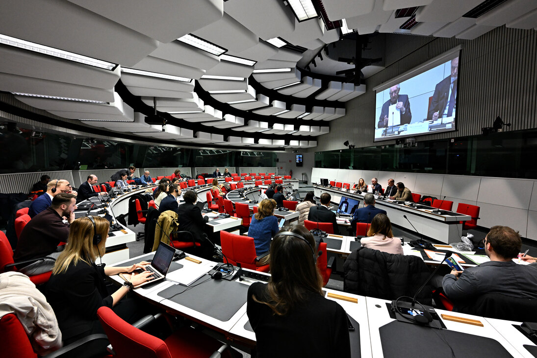
[[[456,129],[459,54],[424,63],[376,89],[375,142]]]

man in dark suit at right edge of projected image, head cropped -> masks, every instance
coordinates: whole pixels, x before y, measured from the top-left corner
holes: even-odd
[[[442,79],[434,87],[431,108],[427,119],[436,121],[438,118],[455,115],[455,99],[457,94],[457,77],[459,74],[459,57],[451,60],[451,75]]]

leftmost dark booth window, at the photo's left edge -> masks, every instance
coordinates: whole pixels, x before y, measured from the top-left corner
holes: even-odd
[[[0,173],[64,170],[72,138],[0,123]]]

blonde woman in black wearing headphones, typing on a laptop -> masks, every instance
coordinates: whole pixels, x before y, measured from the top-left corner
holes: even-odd
[[[113,307],[129,323],[147,313],[136,298],[122,298],[133,286],[148,281],[149,271],[133,273],[124,286],[112,292],[107,290],[106,276],[133,272],[149,264],[142,261],[128,267],[97,265],[96,259],[105,253],[109,225],[99,216],[81,217],[72,222],[66,249],[57,258],[47,283],[47,300],[56,314],[64,345],[90,334],[104,333],[97,319],[97,309],[101,306]]]

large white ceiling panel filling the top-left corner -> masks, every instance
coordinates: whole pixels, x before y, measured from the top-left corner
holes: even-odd
[[[3,2],[0,33],[127,67],[157,47],[157,41],[148,36],[57,0]]]

